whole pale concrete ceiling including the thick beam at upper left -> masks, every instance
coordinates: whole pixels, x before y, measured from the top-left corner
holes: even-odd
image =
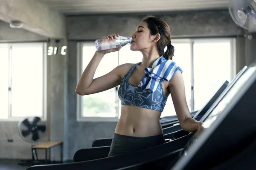
[[[227,9],[229,0],[0,0],[0,20],[19,20],[23,29],[49,38],[65,37],[69,14],[154,13]]]

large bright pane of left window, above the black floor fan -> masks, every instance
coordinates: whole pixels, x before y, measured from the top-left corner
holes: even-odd
[[[12,116],[43,116],[43,48],[12,48]]]

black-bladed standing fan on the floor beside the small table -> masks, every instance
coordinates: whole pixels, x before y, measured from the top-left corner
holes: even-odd
[[[18,123],[18,131],[19,131],[20,137],[24,141],[32,144],[32,146],[35,145],[36,142],[44,138],[44,136],[46,135],[46,128],[47,126],[46,126],[45,120],[40,117],[26,117],[25,119],[23,119]],[[34,155],[37,161],[39,161],[36,150],[32,149],[33,159],[34,159]],[[25,161],[19,161],[19,164],[20,165],[35,164],[35,162],[25,160]]]

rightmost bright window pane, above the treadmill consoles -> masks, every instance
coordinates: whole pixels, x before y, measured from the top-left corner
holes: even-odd
[[[194,43],[195,110],[218,90],[225,80],[230,82],[230,41]]]

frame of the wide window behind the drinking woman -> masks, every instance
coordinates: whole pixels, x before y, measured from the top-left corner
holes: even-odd
[[[206,37],[206,38],[173,38],[172,43],[189,43],[190,44],[190,57],[191,57],[191,111],[194,111],[194,43],[197,42],[227,42],[230,41],[230,80],[236,76],[236,39],[233,37]],[[90,42],[77,42],[77,82],[81,77],[81,68],[82,68],[82,51],[84,44],[95,45],[93,41]],[[119,57],[119,53],[118,53]],[[117,95],[117,93],[116,93]],[[118,111],[118,117],[109,118],[109,117],[83,117],[82,116],[82,96],[77,94],[77,109],[76,109],[76,118],[78,122],[118,122],[119,120],[119,104],[116,109]]]

